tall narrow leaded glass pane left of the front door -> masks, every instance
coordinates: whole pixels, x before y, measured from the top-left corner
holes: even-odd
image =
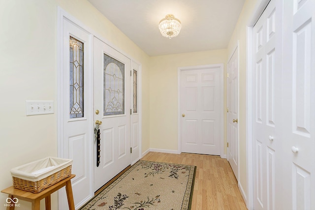
[[[83,42],[70,36],[70,118],[83,118]]]

